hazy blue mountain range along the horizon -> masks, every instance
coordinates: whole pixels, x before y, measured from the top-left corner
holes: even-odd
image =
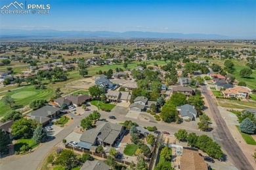
[[[93,37],[93,38],[158,38],[158,39],[255,39],[256,37],[229,37],[204,33],[160,33],[160,32],[108,32],[108,31],[59,31],[59,30],[16,30],[0,29],[1,38],[16,37]]]

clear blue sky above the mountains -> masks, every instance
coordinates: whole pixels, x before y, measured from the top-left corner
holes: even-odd
[[[24,0],[16,0],[24,3]],[[0,7],[9,0],[1,0]],[[50,14],[0,14],[0,28],[256,36],[256,0],[28,0]]]

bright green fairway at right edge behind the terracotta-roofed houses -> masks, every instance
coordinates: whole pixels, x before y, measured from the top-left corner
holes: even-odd
[[[221,59],[210,59],[209,62],[213,62],[215,64],[219,64],[220,66],[222,66],[224,68],[224,61],[225,60],[221,60]],[[240,70],[242,70],[243,68],[248,68],[247,66],[245,66],[246,61],[245,60],[232,60],[232,62],[234,62],[234,68],[236,69],[234,71],[234,75],[236,77],[236,79],[238,81],[244,81],[247,85],[247,87],[251,88],[251,89],[255,89],[255,85],[256,85],[256,70],[253,70],[253,74],[251,74],[251,76],[249,78],[242,78],[239,75]]]

